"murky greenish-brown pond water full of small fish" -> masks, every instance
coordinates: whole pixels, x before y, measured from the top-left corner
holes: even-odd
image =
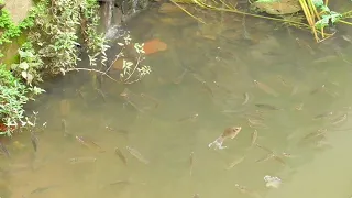
[[[207,18],[152,8],[132,19],[134,41],[167,44],[141,82],[97,89],[86,72],[47,82],[29,107],[47,122],[37,151],[29,133],[7,142],[0,197],[351,197],[348,29],[316,44],[262,19]],[[208,147],[232,127],[226,148]]]

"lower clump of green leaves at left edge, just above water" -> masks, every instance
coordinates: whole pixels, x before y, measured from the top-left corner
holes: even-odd
[[[11,135],[11,129],[22,124],[24,117],[23,105],[31,95],[38,95],[43,89],[29,87],[21,82],[9,72],[3,64],[0,65],[0,119],[8,127],[7,131],[0,134]]]

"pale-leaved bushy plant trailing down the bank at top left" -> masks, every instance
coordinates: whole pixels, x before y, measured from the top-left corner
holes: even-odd
[[[57,75],[77,65],[79,34],[81,33],[88,53],[103,53],[107,50],[102,35],[96,33],[98,25],[96,0],[40,0],[36,6],[35,30],[29,34],[33,47],[45,63],[47,75]]]

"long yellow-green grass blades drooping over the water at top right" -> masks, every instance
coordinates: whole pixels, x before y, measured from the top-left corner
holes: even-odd
[[[206,22],[201,18],[198,18],[194,13],[187,11],[182,4],[194,4],[194,7],[199,7],[205,10],[237,13],[282,22],[285,25],[311,31],[317,42],[322,42],[326,38],[331,37],[334,32],[327,32],[326,29],[334,25],[336,23],[352,25],[352,23],[344,21],[344,19],[351,18],[352,11],[345,13],[331,11],[328,7],[328,0],[298,1],[299,2],[289,0],[249,1],[251,6],[261,7],[261,11],[265,10],[270,14],[263,15],[257,12],[240,10],[237,6],[233,6],[230,1],[226,0],[172,0],[175,6],[201,23]],[[302,13],[299,11],[302,11]],[[293,15],[295,16],[293,18]]]

